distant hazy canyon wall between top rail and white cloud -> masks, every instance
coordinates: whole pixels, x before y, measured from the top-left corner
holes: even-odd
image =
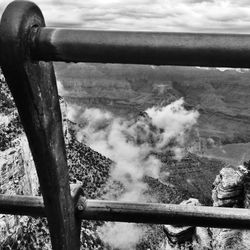
[[[250,141],[250,72],[193,67],[56,64],[63,96],[126,116],[184,97],[197,109],[200,135],[218,143]]]

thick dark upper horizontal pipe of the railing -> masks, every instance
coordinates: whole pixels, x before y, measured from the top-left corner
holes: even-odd
[[[244,34],[41,28],[32,41],[36,60],[250,67],[250,35]]]

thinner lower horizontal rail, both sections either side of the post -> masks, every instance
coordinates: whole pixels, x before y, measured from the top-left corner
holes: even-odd
[[[77,213],[85,220],[250,229],[249,209],[104,200],[83,203],[78,202]],[[46,216],[43,199],[29,196],[0,195],[0,213]]]

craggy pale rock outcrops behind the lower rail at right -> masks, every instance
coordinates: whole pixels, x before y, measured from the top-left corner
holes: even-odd
[[[221,169],[213,183],[212,199],[215,207],[246,208],[248,196],[248,168],[228,166]],[[247,200],[248,201],[248,200]],[[200,206],[198,200],[189,199],[182,202],[185,205]],[[199,228],[165,225],[166,233],[163,249],[214,249],[233,250],[249,249],[250,233],[244,230],[224,228]]]

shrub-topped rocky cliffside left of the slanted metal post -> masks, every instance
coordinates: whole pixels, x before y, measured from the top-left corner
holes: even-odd
[[[0,194],[37,195],[39,185],[32,155],[1,72],[0,100]],[[16,234],[27,220],[27,216],[0,215],[0,241]]]

